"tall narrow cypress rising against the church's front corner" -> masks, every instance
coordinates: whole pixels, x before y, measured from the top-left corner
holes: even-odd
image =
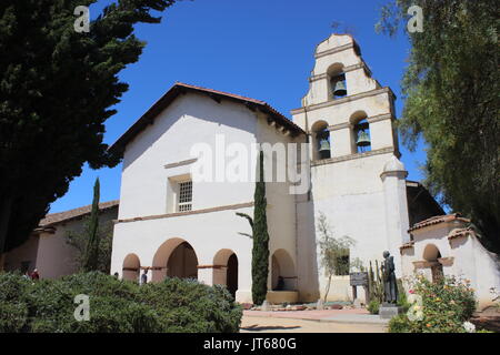
[[[259,153],[259,179],[253,195],[252,300],[262,304],[268,293],[269,233],[267,219],[263,152]]]

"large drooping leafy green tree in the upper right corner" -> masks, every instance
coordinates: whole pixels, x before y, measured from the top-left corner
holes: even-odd
[[[422,32],[409,32],[411,6]],[[396,0],[382,8],[379,31],[402,26],[411,43],[402,80],[399,128],[412,150],[427,142],[427,185],[500,251],[500,119],[498,1]]]

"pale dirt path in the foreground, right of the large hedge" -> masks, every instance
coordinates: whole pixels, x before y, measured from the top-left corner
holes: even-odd
[[[241,333],[384,333],[380,324],[343,324],[318,321],[243,316]]]

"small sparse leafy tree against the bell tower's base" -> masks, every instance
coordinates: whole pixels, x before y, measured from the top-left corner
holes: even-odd
[[[327,216],[322,212],[319,213],[317,229],[320,236],[318,244],[321,253],[321,267],[328,277],[323,300],[327,302],[331,278],[334,275],[348,275],[352,268],[362,270],[362,263],[358,257],[350,258],[350,248],[356,245],[356,241],[347,235],[339,239],[333,237]]]

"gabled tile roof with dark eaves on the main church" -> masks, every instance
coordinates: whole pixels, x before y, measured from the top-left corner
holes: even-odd
[[[306,132],[294,124],[291,120],[287,119],[280,112],[278,112],[274,108],[268,104],[264,101],[246,98],[242,95],[228,93],[223,91],[218,91],[213,89],[207,89],[196,85],[190,85],[181,82],[177,82],[167,91],[163,97],[161,97],[139,119],[133,123],[110,148],[111,152],[122,153],[126,145],[133,140],[133,138],[146,129],[149,124],[152,124],[156,116],[162,112],[170,103],[172,103],[181,93],[186,92],[199,92],[208,94],[210,98],[216,101],[220,101],[222,99],[232,100],[239,103],[247,105],[250,110],[259,109],[260,111],[269,114],[270,119],[277,122],[278,124],[284,126],[287,130],[291,131],[293,134],[306,134]]]

